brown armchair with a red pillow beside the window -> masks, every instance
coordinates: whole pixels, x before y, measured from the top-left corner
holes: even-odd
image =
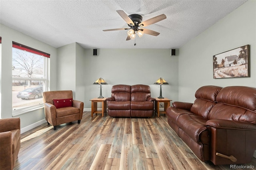
[[[43,93],[44,114],[48,124],[54,126],[78,121],[83,116],[84,103],[73,100],[71,90],[66,91],[45,91]]]

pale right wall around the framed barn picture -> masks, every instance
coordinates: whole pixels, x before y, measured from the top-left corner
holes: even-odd
[[[213,79],[213,55],[250,45],[250,77]],[[256,87],[256,1],[249,0],[179,50],[179,101],[203,85]]]

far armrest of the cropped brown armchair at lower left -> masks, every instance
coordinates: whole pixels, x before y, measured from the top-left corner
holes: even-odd
[[[20,129],[19,117],[0,119],[0,132],[6,132],[15,129]]]

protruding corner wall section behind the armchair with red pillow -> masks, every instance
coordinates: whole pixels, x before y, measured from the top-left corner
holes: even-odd
[[[84,102],[84,48],[78,43],[57,48],[57,90],[72,90]]]

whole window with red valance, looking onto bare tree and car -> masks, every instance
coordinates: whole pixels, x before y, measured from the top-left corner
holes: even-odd
[[[47,89],[50,54],[25,45],[12,44],[12,115],[43,106],[42,92]]]

